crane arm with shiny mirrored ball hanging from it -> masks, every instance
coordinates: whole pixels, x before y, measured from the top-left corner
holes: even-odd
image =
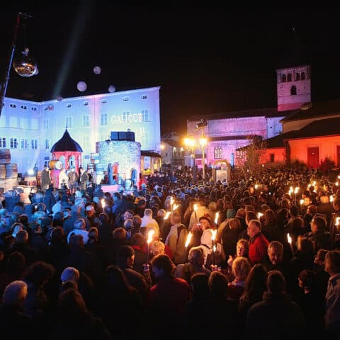
[[[6,73],[4,75],[4,80],[1,83],[0,116],[1,116],[2,108],[4,106],[4,98],[6,96],[8,80],[11,74],[12,62],[13,62],[13,68],[15,69],[16,73],[18,73],[18,75],[21,77],[32,77],[35,74],[38,74],[38,67],[37,67],[35,60],[33,59],[33,57],[30,57],[30,55],[28,55],[28,52],[29,52],[28,47],[24,46],[24,50],[23,52],[21,52],[21,56],[13,60],[14,52],[16,51],[16,38],[18,38],[18,30],[21,24],[21,19],[26,21],[28,18],[32,18],[32,16],[30,16],[27,13],[21,13],[21,12],[18,12],[18,15],[16,17],[16,23],[14,25],[11,49],[8,55],[8,64],[6,68]]]

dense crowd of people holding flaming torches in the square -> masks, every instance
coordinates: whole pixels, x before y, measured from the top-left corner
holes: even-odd
[[[339,183],[288,166],[201,179],[4,193],[0,333],[339,339]]]

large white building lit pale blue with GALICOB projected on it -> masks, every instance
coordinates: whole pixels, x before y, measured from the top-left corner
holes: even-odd
[[[111,131],[135,132],[141,149],[160,152],[159,89],[152,87],[61,101],[23,101],[5,98],[0,117],[0,149],[10,149],[11,163],[25,173],[51,159],[50,148],[65,128],[83,149],[82,166],[90,163],[96,142],[109,140]]]

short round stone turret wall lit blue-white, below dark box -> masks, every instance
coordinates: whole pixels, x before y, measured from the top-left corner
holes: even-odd
[[[118,173],[123,174],[123,179],[131,178],[131,170],[137,169],[140,174],[140,143],[124,140],[108,140],[96,142],[96,152],[99,162],[103,164],[104,171],[108,164],[118,163]]]

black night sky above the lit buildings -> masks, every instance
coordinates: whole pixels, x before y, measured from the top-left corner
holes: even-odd
[[[33,18],[21,26],[16,52],[28,45],[39,67],[31,78],[12,71],[6,96],[43,101],[107,93],[109,85],[116,91],[161,86],[162,135],[185,133],[193,115],[276,107],[276,68],[298,50],[312,64],[312,101],[340,97],[338,6],[164,2],[5,5],[1,78],[18,11]],[[101,74],[94,74],[96,65]],[[84,92],[77,90],[81,80]]]

